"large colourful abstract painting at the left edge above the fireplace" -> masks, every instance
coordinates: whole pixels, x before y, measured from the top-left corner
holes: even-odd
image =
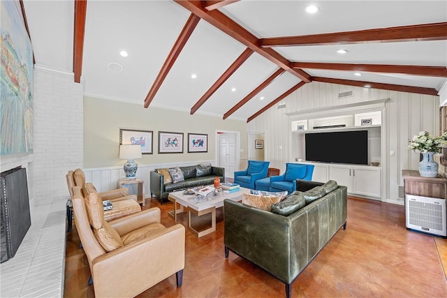
[[[33,49],[19,1],[1,1],[0,155],[33,151]]]

